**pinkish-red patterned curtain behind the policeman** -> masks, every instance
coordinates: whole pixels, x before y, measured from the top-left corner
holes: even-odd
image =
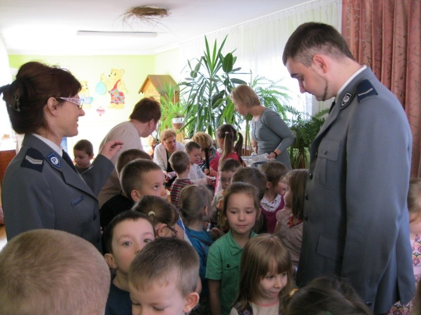
[[[414,141],[411,176],[420,176],[421,165],[420,16],[420,0],[342,0],[342,35],[352,54],[372,68],[407,114]]]

